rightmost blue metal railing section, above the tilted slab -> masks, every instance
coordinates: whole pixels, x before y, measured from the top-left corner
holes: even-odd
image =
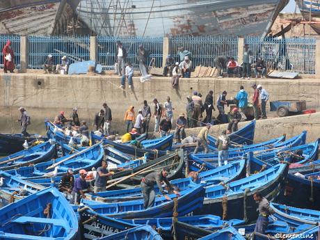
[[[253,51],[253,62],[262,58],[270,70],[288,70],[302,74],[315,74],[315,50],[314,38],[255,38],[247,37]]]

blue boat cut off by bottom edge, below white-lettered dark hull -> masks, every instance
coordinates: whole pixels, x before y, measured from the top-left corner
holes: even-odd
[[[122,240],[122,239],[139,239],[139,240],[163,240],[158,232],[149,225],[142,225],[130,228],[122,232],[112,234],[107,237],[99,238],[99,240]]]

